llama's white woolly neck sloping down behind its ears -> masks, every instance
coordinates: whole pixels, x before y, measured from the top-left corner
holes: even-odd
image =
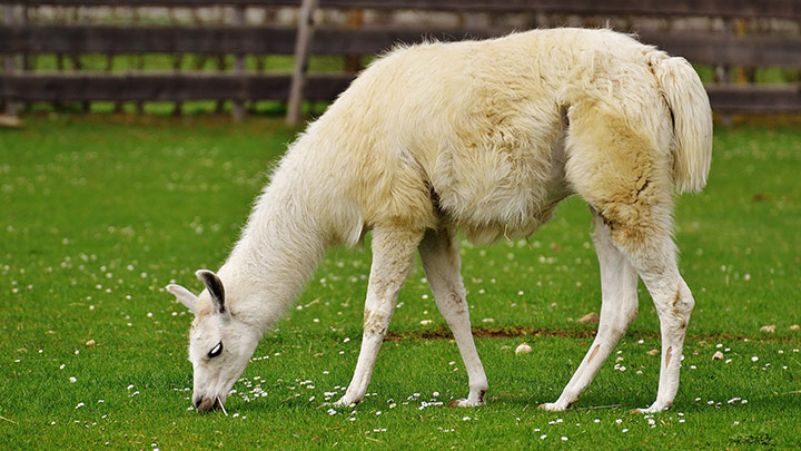
[[[328,247],[306,190],[293,186],[296,171],[281,166],[220,268],[231,313],[261,333],[291,305]]]

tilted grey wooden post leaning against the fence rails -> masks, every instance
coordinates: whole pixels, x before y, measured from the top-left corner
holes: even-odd
[[[308,71],[308,53],[314,37],[314,11],[316,9],[317,0],[303,0],[295,40],[295,69],[287,106],[287,124],[289,125],[298,125],[303,114],[303,90]]]

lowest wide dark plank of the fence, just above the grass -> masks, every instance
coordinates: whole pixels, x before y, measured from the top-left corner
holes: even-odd
[[[347,73],[309,73],[308,100],[333,100],[353,79]],[[31,101],[286,100],[290,76],[249,73],[50,73],[0,75],[0,97]],[[801,85],[706,87],[718,112],[801,112]]]

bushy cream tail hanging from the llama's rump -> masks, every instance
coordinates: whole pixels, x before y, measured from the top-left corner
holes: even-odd
[[[673,114],[673,182],[679,193],[706,185],[712,159],[712,108],[701,79],[684,58],[651,53],[649,65]]]

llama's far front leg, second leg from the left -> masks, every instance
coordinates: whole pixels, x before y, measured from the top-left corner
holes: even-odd
[[[428,277],[437,308],[451,327],[467,370],[469,394],[452,405],[484,403],[487,379],[471,332],[465,288],[459,274],[458,243],[452,229],[427,231],[419,245],[423,268]]]

